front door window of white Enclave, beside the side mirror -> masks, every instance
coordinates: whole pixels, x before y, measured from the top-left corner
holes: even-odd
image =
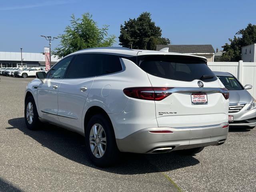
[[[67,57],[58,62],[52,69],[47,73],[46,78],[50,79],[62,79],[65,76],[66,69],[70,64],[73,56]]]

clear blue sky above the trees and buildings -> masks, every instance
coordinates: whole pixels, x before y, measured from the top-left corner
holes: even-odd
[[[43,52],[47,42],[40,35],[62,34],[73,13],[90,12],[99,27],[110,25],[109,34],[118,37],[120,24],[145,11],[172,44],[212,44],[214,49],[248,23],[256,24],[255,0],[2,0],[0,51]],[[58,44],[54,40],[52,48]]]

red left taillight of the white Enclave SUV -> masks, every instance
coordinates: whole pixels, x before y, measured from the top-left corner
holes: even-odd
[[[124,94],[131,98],[160,101],[171,93],[166,90],[171,87],[130,87],[123,90]]]

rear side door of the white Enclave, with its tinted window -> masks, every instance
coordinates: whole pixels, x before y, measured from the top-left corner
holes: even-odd
[[[93,54],[78,54],[58,92],[60,124],[82,132],[82,112],[95,79]]]

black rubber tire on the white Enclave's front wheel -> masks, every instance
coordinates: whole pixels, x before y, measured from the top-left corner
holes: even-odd
[[[33,118],[32,118],[32,122],[30,123],[29,120],[28,120],[28,116],[27,116],[27,107],[28,107],[28,104],[31,103],[32,106],[33,106]],[[40,125],[40,120],[38,118],[38,112],[37,112],[37,109],[36,109],[36,104],[35,104],[35,101],[34,101],[34,98],[33,96],[29,96],[26,101],[25,101],[25,108],[24,108],[24,118],[25,118],[25,122],[26,122],[26,126],[28,129],[30,130],[37,130],[38,129],[38,126]]]

